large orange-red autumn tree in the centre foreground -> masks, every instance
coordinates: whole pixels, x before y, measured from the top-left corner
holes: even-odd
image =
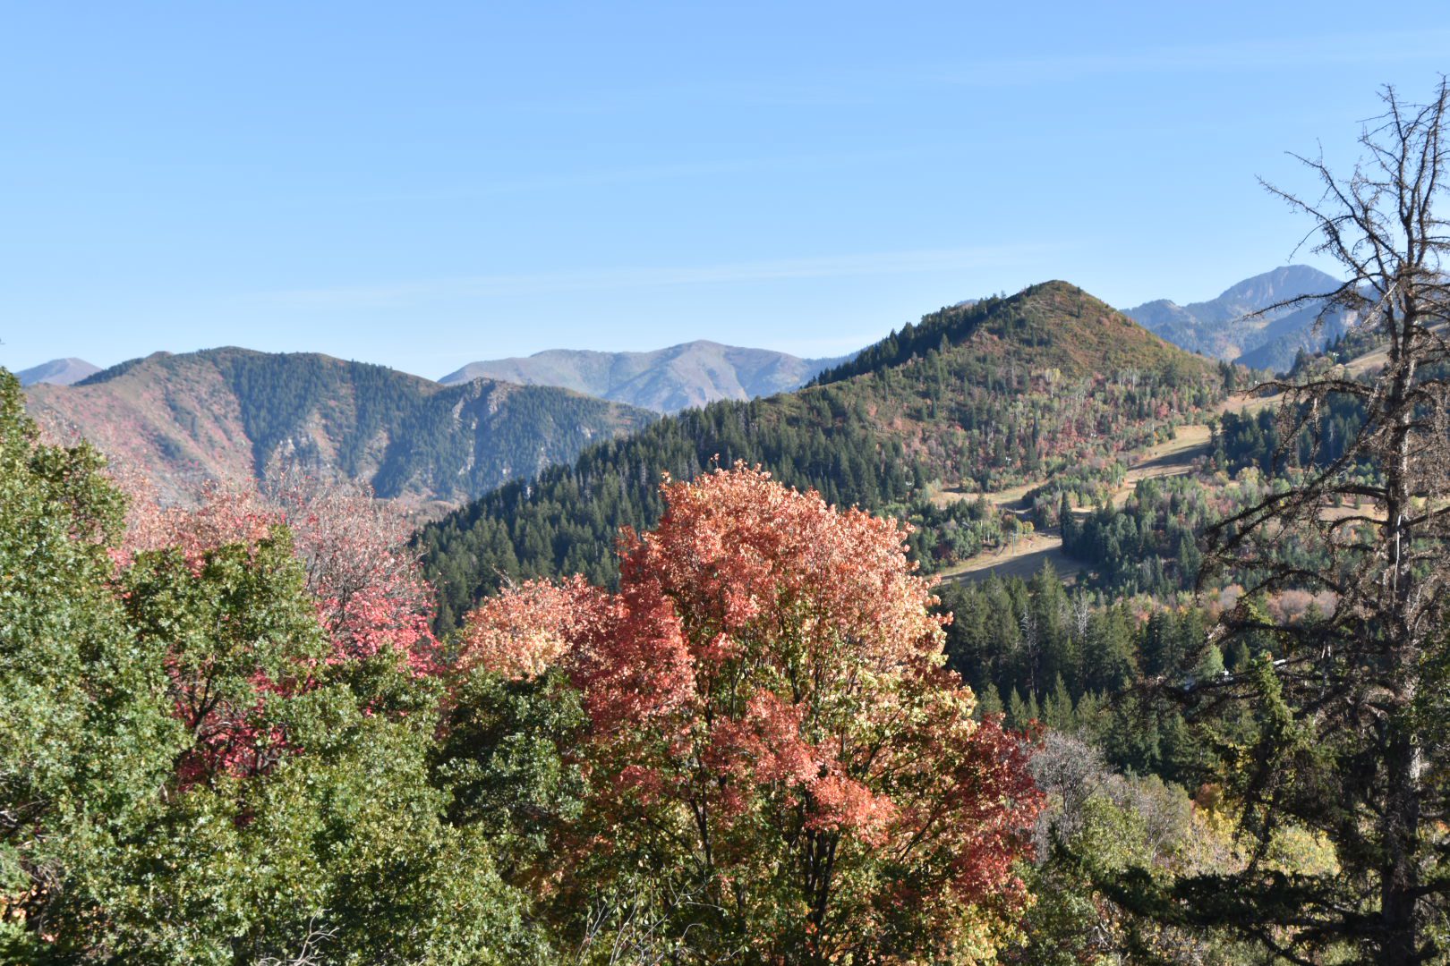
[[[589,711],[561,895],[668,879],[666,925],[706,954],[989,959],[1041,795],[944,668],[903,530],[741,465],[664,495],[618,594],[529,582],[464,630],[465,666],[561,666]]]

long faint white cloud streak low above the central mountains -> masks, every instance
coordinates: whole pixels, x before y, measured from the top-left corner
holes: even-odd
[[[344,308],[387,307],[420,301],[486,298],[493,295],[548,294],[561,291],[605,291],[718,285],[777,280],[844,278],[951,272],[1002,268],[1038,261],[1056,245],[993,245],[976,248],[916,249],[783,258],[753,262],[673,266],[615,266],[554,272],[521,272],[403,281],[386,285],[347,285],[264,293],[270,301],[299,307]]]

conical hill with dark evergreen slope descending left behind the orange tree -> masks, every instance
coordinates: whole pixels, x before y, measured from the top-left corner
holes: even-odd
[[[1066,282],[944,308],[792,394],[715,403],[584,450],[425,527],[419,543],[448,626],[502,576],[615,579],[619,527],[650,526],[661,474],[761,463],[834,504],[929,517],[942,539],[993,490],[1111,462],[1222,395],[1214,364],[1176,349]],[[935,534],[931,534],[932,540]],[[918,550],[925,543],[914,543]]]

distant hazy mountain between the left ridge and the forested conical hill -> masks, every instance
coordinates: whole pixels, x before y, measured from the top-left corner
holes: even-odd
[[[799,388],[841,359],[802,359],[768,349],[684,342],[652,352],[548,349],[531,356],[470,362],[439,382],[489,378],[555,385],[657,413],[716,400],[748,400]]]

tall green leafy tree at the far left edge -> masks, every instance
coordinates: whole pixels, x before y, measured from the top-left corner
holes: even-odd
[[[39,445],[22,398],[0,369],[0,959],[36,962],[184,734],[109,587],[123,500],[88,446]]]

